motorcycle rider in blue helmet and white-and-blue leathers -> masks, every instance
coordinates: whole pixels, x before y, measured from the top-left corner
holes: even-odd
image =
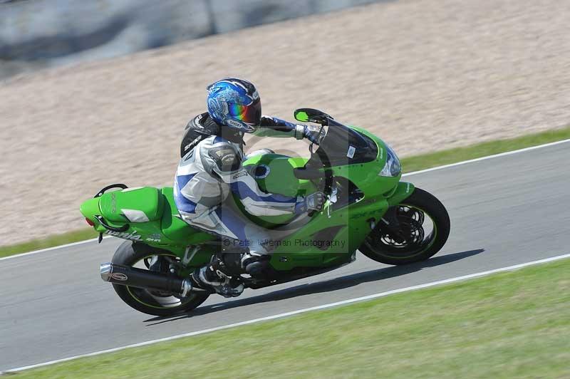
[[[242,161],[247,159],[243,152],[244,133],[307,138],[316,144],[321,135],[310,125],[262,116],[259,93],[249,81],[224,78],[209,85],[207,91],[207,113],[197,115],[185,128],[174,196],[185,222],[222,237],[226,246],[229,241],[238,246],[234,252],[230,249],[229,254],[218,254],[221,256],[198,269],[193,279],[199,286],[224,296],[239,296],[244,286],[230,279],[232,273],[261,274],[271,251],[263,244],[269,240],[266,229],[224,204],[229,193],[236,194],[247,212],[256,216],[321,211],[325,201],[322,192],[286,197],[261,191],[254,177],[242,167]],[[267,152],[271,150],[255,153]]]

